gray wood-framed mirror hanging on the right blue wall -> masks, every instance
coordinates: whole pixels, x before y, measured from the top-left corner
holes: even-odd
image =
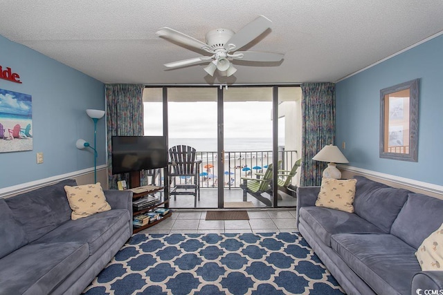
[[[418,161],[419,79],[380,91],[380,158]]]

